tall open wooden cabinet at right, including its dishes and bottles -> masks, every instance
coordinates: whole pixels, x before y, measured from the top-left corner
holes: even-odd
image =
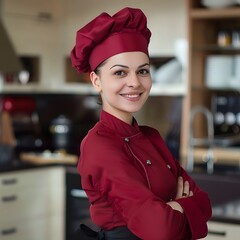
[[[213,156],[209,149],[221,148],[221,144],[231,145],[231,141],[216,138],[237,136],[240,126],[237,109],[240,103],[237,96],[240,90],[240,5],[237,1],[230,5],[211,0],[186,2],[189,71],[181,138],[184,165],[191,161],[192,154],[195,154],[194,160],[208,162],[209,156]],[[206,151],[197,154],[197,151],[191,152],[191,148]],[[212,158],[221,162],[223,155]],[[239,163],[240,158],[231,160]]]

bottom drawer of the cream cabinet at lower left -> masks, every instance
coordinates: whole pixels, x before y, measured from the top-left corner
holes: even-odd
[[[64,240],[64,237],[63,216],[0,223],[1,240]]]

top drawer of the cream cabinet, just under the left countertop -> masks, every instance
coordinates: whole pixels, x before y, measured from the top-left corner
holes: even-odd
[[[6,188],[52,186],[64,176],[64,168],[28,169],[0,174],[0,191]]]

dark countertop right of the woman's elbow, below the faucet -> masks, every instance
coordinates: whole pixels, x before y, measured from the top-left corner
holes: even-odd
[[[212,202],[211,221],[240,224],[240,170],[217,169],[213,174],[196,171],[190,176]]]

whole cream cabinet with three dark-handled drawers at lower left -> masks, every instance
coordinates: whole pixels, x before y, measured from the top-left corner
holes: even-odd
[[[64,168],[3,173],[0,196],[0,239],[64,239]]]

